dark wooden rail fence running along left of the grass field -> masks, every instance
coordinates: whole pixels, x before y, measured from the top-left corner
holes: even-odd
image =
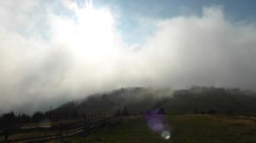
[[[94,114],[86,116],[80,122],[72,123],[59,123],[52,127],[32,127],[32,128],[15,128],[12,131],[12,135],[15,134],[28,134],[34,132],[40,132],[39,135],[24,137],[18,139],[9,139],[9,134],[6,136],[7,140],[3,142],[44,142],[46,140],[54,140],[63,137],[69,137],[77,134],[88,135],[91,130],[103,128],[106,126],[114,126],[121,122],[122,117],[113,116],[111,114]],[[47,133],[47,134],[46,134]],[[0,138],[4,138],[6,134],[4,131],[0,131]]]

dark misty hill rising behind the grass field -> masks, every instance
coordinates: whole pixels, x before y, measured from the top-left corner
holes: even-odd
[[[130,114],[163,108],[168,113],[255,114],[256,93],[240,89],[192,86],[172,90],[151,87],[121,88],[70,101],[53,110],[56,116],[115,114],[127,109]]]

